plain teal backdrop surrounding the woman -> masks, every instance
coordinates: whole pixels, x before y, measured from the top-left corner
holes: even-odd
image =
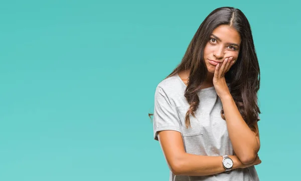
[[[261,69],[260,180],[297,180],[298,1],[1,1],[0,180],[168,180],[156,86],[205,17],[248,18]]]

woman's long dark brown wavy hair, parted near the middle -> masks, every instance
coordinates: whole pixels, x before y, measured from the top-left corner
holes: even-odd
[[[167,76],[169,78],[184,70],[190,70],[189,82],[185,90],[190,107],[186,113],[185,124],[190,126],[189,115],[196,111],[200,99],[198,91],[207,77],[207,67],[204,61],[204,48],[210,35],[220,25],[229,25],[241,37],[241,48],[236,63],[225,74],[227,83],[230,83],[230,93],[245,122],[253,129],[251,124],[257,121],[260,110],[257,104],[257,92],[260,84],[260,69],[254,48],[250,24],[245,15],[232,7],[222,7],[211,12],[198,28],[191,40],[182,62]],[[165,78],[165,79],[166,79]],[[154,114],[148,114],[148,116]],[[224,110],[221,117],[225,119]]]

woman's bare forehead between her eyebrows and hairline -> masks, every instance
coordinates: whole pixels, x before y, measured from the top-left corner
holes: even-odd
[[[241,39],[239,33],[229,25],[220,25],[213,30],[212,34],[221,39],[223,43],[240,44]]]

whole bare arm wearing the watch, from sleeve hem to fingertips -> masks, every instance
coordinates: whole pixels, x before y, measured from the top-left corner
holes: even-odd
[[[222,156],[203,156],[186,153],[181,133],[178,131],[160,131],[158,138],[168,166],[175,175],[202,176],[225,171],[225,168],[222,166]],[[252,163],[242,164],[237,156],[228,156],[233,160],[232,169],[244,168],[261,162],[257,158]]]

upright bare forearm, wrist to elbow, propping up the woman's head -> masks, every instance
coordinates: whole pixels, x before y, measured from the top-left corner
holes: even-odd
[[[243,120],[231,95],[221,97],[233,150],[243,163],[252,162],[259,150],[255,134]]]

